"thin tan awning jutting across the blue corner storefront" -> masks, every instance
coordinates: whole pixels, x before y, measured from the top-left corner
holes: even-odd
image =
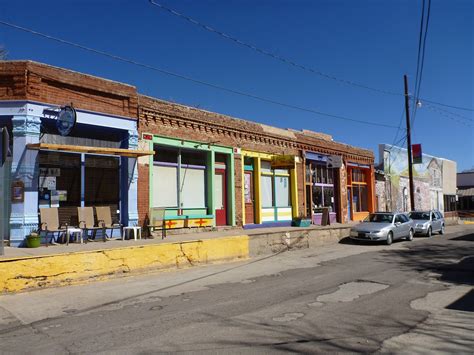
[[[153,150],[88,147],[88,146],[82,146],[82,145],[51,144],[51,143],[33,143],[33,144],[28,144],[27,147],[29,149],[36,149],[36,150],[54,150],[54,151],[71,152],[71,153],[117,155],[117,156],[128,157],[128,158],[138,158],[138,157],[142,157],[146,155],[155,154]]]

